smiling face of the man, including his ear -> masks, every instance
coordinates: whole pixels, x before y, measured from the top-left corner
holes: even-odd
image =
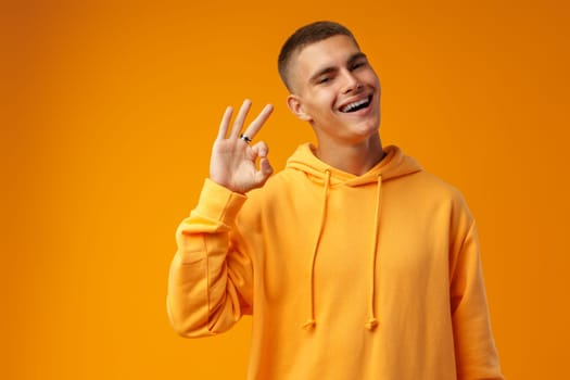
[[[380,125],[380,81],[352,38],[338,35],[293,56],[290,109],[311,123],[319,144],[358,144]]]

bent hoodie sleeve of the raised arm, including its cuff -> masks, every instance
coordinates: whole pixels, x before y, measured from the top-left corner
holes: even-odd
[[[206,179],[198,206],[178,227],[167,312],[182,337],[223,332],[251,314],[252,262],[230,239],[245,199]]]

